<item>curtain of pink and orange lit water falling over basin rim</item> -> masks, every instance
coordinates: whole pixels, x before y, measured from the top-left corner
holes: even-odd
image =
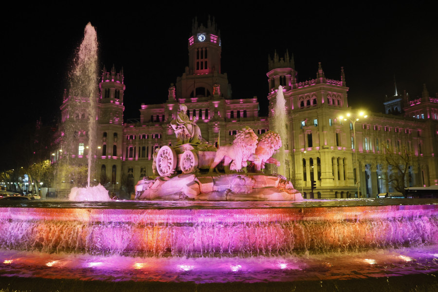
[[[124,256],[278,256],[438,244],[437,205],[1,208],[1,246]]]

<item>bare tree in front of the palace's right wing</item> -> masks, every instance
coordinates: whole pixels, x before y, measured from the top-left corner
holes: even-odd
[[[397,192],[405,193],[407,172],[412,161],[412,151],[406,146],[382,145],[383,163],[388,167],[388,184]],[[389,171],[390,170],[390,171]]]

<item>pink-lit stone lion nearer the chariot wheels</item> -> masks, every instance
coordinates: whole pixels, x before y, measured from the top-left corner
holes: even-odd
[[[223,165],[225,168],[225,173],[229,173],[230,170],[236,170],[237,172],[240,172],[242,167],[247,165],[246,161],[248,158],[254,154],[256,146],[257,135],[251,128],[245,127],[241,130],[238,130],[233,144],[219,146],[218,151],[216,152],[215,160],[210,166],[209,173],[212,173],[213,169],[222,160],[224,161]]]

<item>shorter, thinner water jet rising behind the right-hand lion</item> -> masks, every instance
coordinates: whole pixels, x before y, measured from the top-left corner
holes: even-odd
[[[280,135],[283,144],[283,147],[277,151],[277,160],[280,162],[277,171],[281,175],[286,175],[284,149],[288,145],[288,134],[286,130],[286,101],[284,100],[283,87],[281,85],[278,87],[275,98],[274,131]]]

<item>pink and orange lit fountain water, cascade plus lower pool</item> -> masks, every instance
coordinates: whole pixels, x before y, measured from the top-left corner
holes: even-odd
[[[0,245],[3,279],[205,284],[433,276],[438,202],[1,202]]]

